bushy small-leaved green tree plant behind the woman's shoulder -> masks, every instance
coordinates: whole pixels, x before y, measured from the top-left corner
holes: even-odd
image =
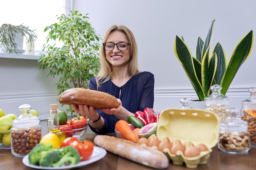
[[[99,72],[99,35],[86,15],[78,11],[62,14],[58,23],[45,28],[47,43],[40,53],[40,69],[49,69],[52,77],[59,77],[58,95],[69,88],[88,88],[89,80]],[[54,43],[51,43],[51,41]],[[56,41],[62,43],[56,45]],[[68,111],[71,111],[68,110]]]

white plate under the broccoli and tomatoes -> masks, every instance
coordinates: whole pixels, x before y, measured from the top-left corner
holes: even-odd
[[[80,161],[76,165],[69,165],[69,166],[60,166],[60,167],[43,167],[43,166],[35,166],[35,165],[30,165],[29,164],[29,155],[26,155],[23,159],[22,162],[31,168],[36,168],[36,169],[42,169],[42,170],[69,170],[72,168],[78,168],[81,166],[88,165],[90,163],[96,162],[100,160],[101,158],[105,157],[106,155],[106,150],[103,148],[100,148],[98,146],[94,146],[92,156],[86,160],[86,161]]]

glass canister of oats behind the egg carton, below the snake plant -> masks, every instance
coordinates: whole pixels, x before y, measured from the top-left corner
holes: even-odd
[[[211,86],[211,95],[204,98],[204,110],[216,113],[221,120],[227,119],[225,112],[229,108],[229,98],[221,93],[222,86],[214,84]]]

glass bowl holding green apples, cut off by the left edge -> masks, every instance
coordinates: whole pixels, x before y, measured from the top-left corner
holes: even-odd
[[[11,123],[0,124],[0,149],[11,149],[11,146],[9,146],[9,143],[11,143],[11,135],[9,135],[11,133],[11,127]]]

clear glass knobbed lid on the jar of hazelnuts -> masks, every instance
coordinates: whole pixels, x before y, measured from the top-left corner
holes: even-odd
[[[31,106],[29,104],[23,104],[18,107],[20,116],[13,119],[13,128],[29,128],[40,125],[40,118],[29,113]]]

